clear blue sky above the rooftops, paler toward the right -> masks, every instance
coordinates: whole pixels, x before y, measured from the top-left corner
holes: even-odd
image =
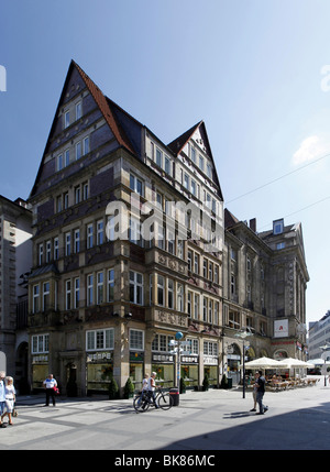
[[[307,321],[320,319],[330,309],[329,19],[328,0],[2,0],[0,194],[28,198],[73,58],[165,143],[204,120],[239,219],[256,218],[260,231],[301,221]]]

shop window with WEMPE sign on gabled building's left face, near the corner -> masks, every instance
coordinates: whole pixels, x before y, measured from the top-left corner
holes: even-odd
[[[113,374],[112,352],[89,352],[86,358],[87,394],[108,393]]]

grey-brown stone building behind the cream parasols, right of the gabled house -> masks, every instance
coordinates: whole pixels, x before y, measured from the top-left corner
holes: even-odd
[[[307,272],[301,224],[279,219],[257,232],[256,220],[239,221],[224,210],[223,329],[229,376],[239,376],[242,341],[248,327],[246,359],[306,360]]]

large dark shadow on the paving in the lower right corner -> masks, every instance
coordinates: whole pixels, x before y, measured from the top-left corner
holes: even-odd
[[[251,421],[229,426],[231,420],[249,416]],[[228,427],[174,441],[162,450],[329,450],[330,402],[276,416],[222,414],[219,421],[223,420]]]

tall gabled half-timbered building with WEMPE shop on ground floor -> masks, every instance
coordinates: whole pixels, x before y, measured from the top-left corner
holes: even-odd
[[[29,202],[30,376],[68,394],[113,375],[219,383],[222,193],[201,121],[164,144],[73,61]],[[152,210],[152,211],[151,211]]]

